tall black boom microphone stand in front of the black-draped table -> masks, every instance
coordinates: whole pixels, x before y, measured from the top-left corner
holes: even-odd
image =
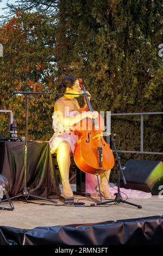
[[[74,94],[74,93],[58,93],[58,92],[13,92],[11,93],[11,96],[16,95],[16,94],[24,94],[26,95],[26,132],[25,132],[25,142],[24,142],[24,188],[23,188],[23,192],[17,196],[11,197],[10,199],[16,199],[16,198],[20,198],[20,197],[24,197],[26,199],[27,202],[28,198],[34,198],[34,199],[41,199],[41,200],[46,200],[48,202],[52,202],[54,204],[57,204],[57,201],[52,200],[52,199],[47,199],[47,198],[42,198],[39,196],[34,196],[29,194],[29,189],[27,187],[27,151],[28,151],[28,145],[27,145],[27,141],[28,141],[28,105],[29,105],[29,99],[30,99],[30,95],[32,94],[54,94],[54,95],[79,95],[79,96],[90,96],[87,93],[80,93],[80,94]],[[5,201],[7,201],[8,199],[4,199],[1,200],[0,203],[3,203]]]

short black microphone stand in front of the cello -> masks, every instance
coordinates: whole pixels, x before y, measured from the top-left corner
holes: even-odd
[[[133,203],[130,203],[130,202],[127,202],[126,200],[123,200],[122,199],[122,196],[121,196],[121,191],[120,191],[120,173],[122,173],[122,177],[123,177],[123,182],[124,184],[126,184],[126,179],[124,178],[124,175],[123,175],[123,168],[121,166],[121,161],[120,161],[120,157],[118,156],[118,153],[117,153],[117,148],[116,148],[116,145],[115,145],[115,134],[114,134],[114,138],[112,138],[112,143],[114,145],[114,149],[115,149],[115,154],[116,154],[116,159],[118,161],[118,173],[117,173],[117,176],[118,176],[118,179],[117,179],[117,193],[115,193],[115,199],[113,200],[105,200],[103,202],[97,202],[95,204],[91,204],[90,206],[95,206],[95,205],[101,205],[101,204],[108,204],[108,203],[124,203],[124,204],[129,204],[129,205],[133,205],[133,206],[136,206],[137,208],[141,209],[142,206],[141,205],[137,205],[137,204],[133,204]],[[99,190],[99,193],[101,194],[101,191]]]

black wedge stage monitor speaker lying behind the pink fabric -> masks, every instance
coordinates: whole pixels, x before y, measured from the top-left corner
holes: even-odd
[[[129,160],[123,170],[127,184],[124,185],[122,174],[120,186],[159,194],[163,187],[163,163],[161,161]]]

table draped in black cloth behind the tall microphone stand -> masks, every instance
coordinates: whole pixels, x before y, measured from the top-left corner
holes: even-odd
[[[44,198],[59,198],[60,188],[49,143],[28,141],[27,187],[29,193]],[[24,188],[24,142],[0,141],[0,174],[10,184],[10,197]]]

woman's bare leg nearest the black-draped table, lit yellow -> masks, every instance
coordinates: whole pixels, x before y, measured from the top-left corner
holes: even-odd
[[[62,179],[63,194],[66,197],[72,197],[73,192],[69,183],[69,172],[70,172],[70,144],[66,141],[59,143],[56,150],[57,162]]]

